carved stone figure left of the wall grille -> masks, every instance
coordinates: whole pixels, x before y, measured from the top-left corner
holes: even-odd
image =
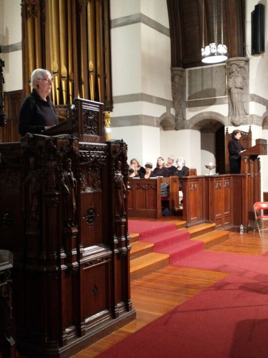
[[[185,69],[179,67],[171,69],[171,89],[175,109],[175,129],[179,130],[184,128],[185,120]]]

